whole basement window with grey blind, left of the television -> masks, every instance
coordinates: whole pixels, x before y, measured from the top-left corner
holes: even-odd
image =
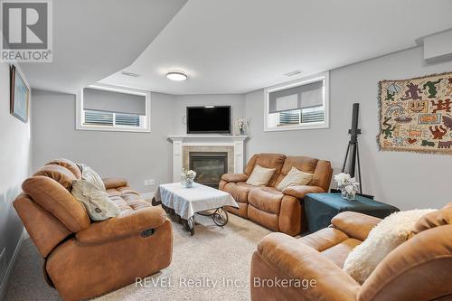
[[[150,93],[112,86],[89,86],[77,98],[77,129],[150,131]]]

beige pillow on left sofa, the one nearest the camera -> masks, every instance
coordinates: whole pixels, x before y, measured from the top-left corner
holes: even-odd
[[[110,201],[106,192],[86,180],[72,181],[72,195],[85,206],[93,221],[104,221],[121,212],[118,205]]]

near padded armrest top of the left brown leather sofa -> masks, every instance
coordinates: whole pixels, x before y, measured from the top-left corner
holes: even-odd
[[[140,234],[143,230],[155,229],[165,220],[166,214],[161,207],[142,208],[105,221],[93,222],[87,229],[77,232],[76,238],[84,243],[118,240]]]

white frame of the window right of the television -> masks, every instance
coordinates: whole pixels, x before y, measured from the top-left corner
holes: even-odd
[[[318,128],[329,128],[330,127],[330,72],[325,71],[318,73],[309,77],[305,77],[298,80],[287,81],[276,86],[268,87],[264,89],[264,132],[276,132],[276,131],[290,131],[290,130],[303,130],[303,129],[318,129]],[[282,89],[289,89],[301,85],[306,85],[318,80],[324,80],[324,116],[325,120],[323,122],[312,122],[306,124],[299,124],[294,126],[283,126],[278,127],[278,120],[275,122],[275,126],[269,126],[270,114],[268,113],[268,94],[270,92],[279,91]],[[274,119],[274,118],[273,118]]]

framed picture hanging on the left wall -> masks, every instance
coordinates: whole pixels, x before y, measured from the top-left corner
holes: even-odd
[[[10,80],[10,113],[23,122],[28,122],[28,101],[30,88],[26,84],[20,71],[11,65]]]

